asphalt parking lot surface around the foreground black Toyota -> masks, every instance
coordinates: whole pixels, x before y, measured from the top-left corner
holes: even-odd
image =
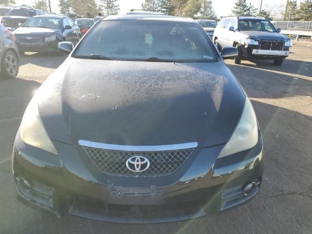
[[[282,66],[273,61],[226,63],[252,99],[264,140],[265,174],[245,206],[186,222],[129,225],[71,215],[57,218],[21,203],[11,152],[23,112],[66,56],[28,53],[15,79],[0,78],[0,234],[312,233],[312,42],[297,41]]]

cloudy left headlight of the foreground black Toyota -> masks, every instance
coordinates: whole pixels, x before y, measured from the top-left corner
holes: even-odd
[[[58,155],[41,121],[38,105],[34,98],[31,100],[20,125],[20,138],[28,145]]]

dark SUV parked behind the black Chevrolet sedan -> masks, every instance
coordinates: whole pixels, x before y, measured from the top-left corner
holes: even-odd
[[[1,23],[10,31],[20,27],[33,16],[44,15],[44,12],[39,9],[13,8],[7,16],[2,17]]]

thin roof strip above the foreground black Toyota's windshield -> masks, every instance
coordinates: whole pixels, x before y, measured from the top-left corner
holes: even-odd
[[[166,16],[166,15],[141,15],[141,14],[108,16],[102,19],[101,21],[106,21],[106,20],[164,20],[164,21],[177,21],[177,22],[185,22],[185,23],[197,23],[195,20],[191,18]]]

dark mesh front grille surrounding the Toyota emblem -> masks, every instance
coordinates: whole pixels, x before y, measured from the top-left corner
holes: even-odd
[[[114,176],[168,176],[175,173],[192,155],[195,148],[168,151],[117,151],[82,146],[99,171]],[[144,156],[150,166],[143,172],[132,172],[126,161],[132,156]]]

